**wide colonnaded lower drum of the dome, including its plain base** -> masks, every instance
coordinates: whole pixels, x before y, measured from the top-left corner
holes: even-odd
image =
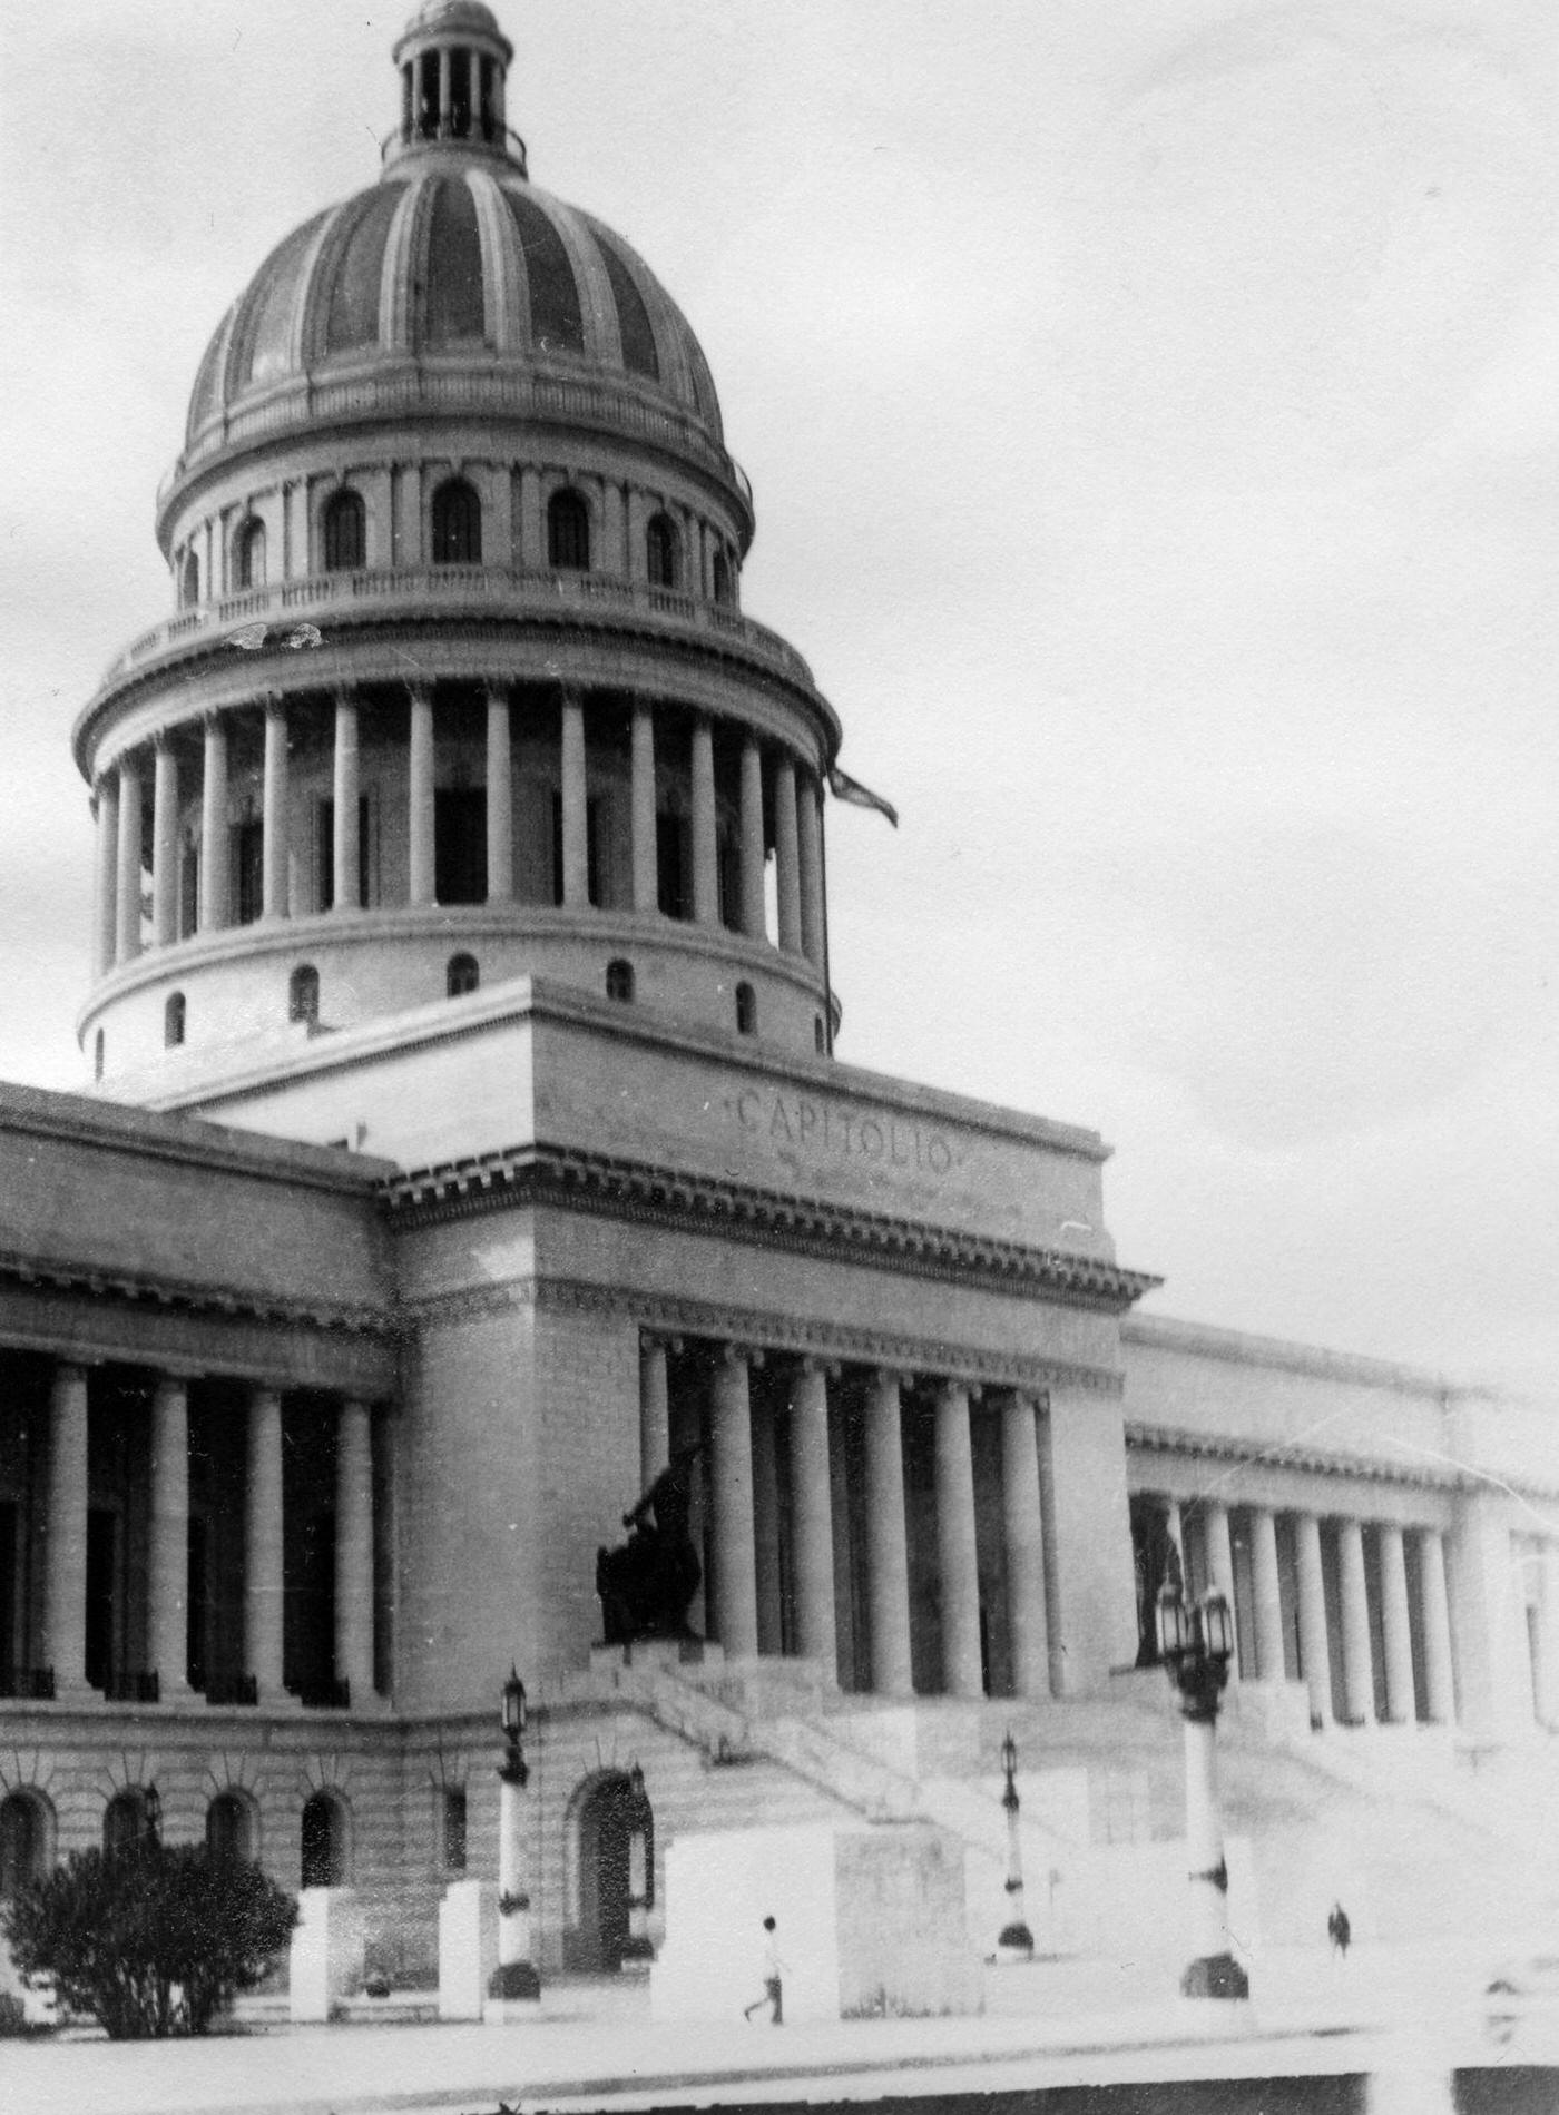
[[[150,1062],[148,990],[178,992],[176,1043],[226,1045],[256,1009],[273,1030],[260,962],[298,950],[355,964],[345,1026],[432,998],[440,948],[592,986],[630,939],[647,1005],[726,1028],[745,981],[745,1032],[817,1049],[814,757],[666,700],[495,681],[271,694],[121,740],[82,1028],[116,1072],[127,1032]]]

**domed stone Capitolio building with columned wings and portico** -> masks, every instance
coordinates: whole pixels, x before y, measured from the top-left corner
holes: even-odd
[[[702,353],[531,190],[484,8],[398,63],[381,186],[212,343],[176,613],[76,723],[97,1093],[0,1091],[0,1882],[154,1785],[427,1975],[516,1665],[537,1956],[611,1965],[635,1762],[658,1872],[886,1815],[844,1698],[1108,1747],[1166,1540],[1278,1717],[1538,1741],[1546,1417],[1134,1316],[1094,1132],[836,1058],[840,728],[738,609]],[[592,1654],[690,1445],[711,1654]]]

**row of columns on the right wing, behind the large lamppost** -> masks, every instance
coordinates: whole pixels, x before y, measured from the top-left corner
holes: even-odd
[[[1204,1535],[1208,1584],[1237,1612],[1233,1576],[1233,1538],[1229,1508],[1218,1502],[1197,1506]],[[1259,1681],[1284,1679],[1284,1605],[1278,1565],[1278,1512],[1267,1506],[1244,1510],[1250,1533],[1250,1605],[1254,1637],[1242,1639],[1246,1662]],[[1292,1512],[1299,1667],[1309,1690],[1312,1719],[1328,1724],[1333,1711],[1333,1650],[1326,1622],[1326,1565],[1322,1550],[1322,1519],[1316,1512]],[[1182,1548],[1180,1508],[1170,1504],[1170,1535]],[[1371,1650],[1369,1588],[1364,1565],[1364,1527],[1354,1514],[1333,1519],[1337,1538],[1337,1603],[1341,1610],[1341,1696],[1350,1724],[1373,1724],[1375,1658]],[[1426,1709],[1436,1724],[1455,1717],[1451,1677],[1451,1612],[1445,1584],[1445,1538],[1436,1527],[1402,1529],[1394,1521],[1375,1523],[1379,1546],[1381,1633],[1386,1641],[1386,1722],[1411,1724],[1417,1717],[1413,1681],[1413,1614],[1409,1601],[1407,1538],[1417,1544],[1419,1559],[1419,1629],[1424,1639]]]

